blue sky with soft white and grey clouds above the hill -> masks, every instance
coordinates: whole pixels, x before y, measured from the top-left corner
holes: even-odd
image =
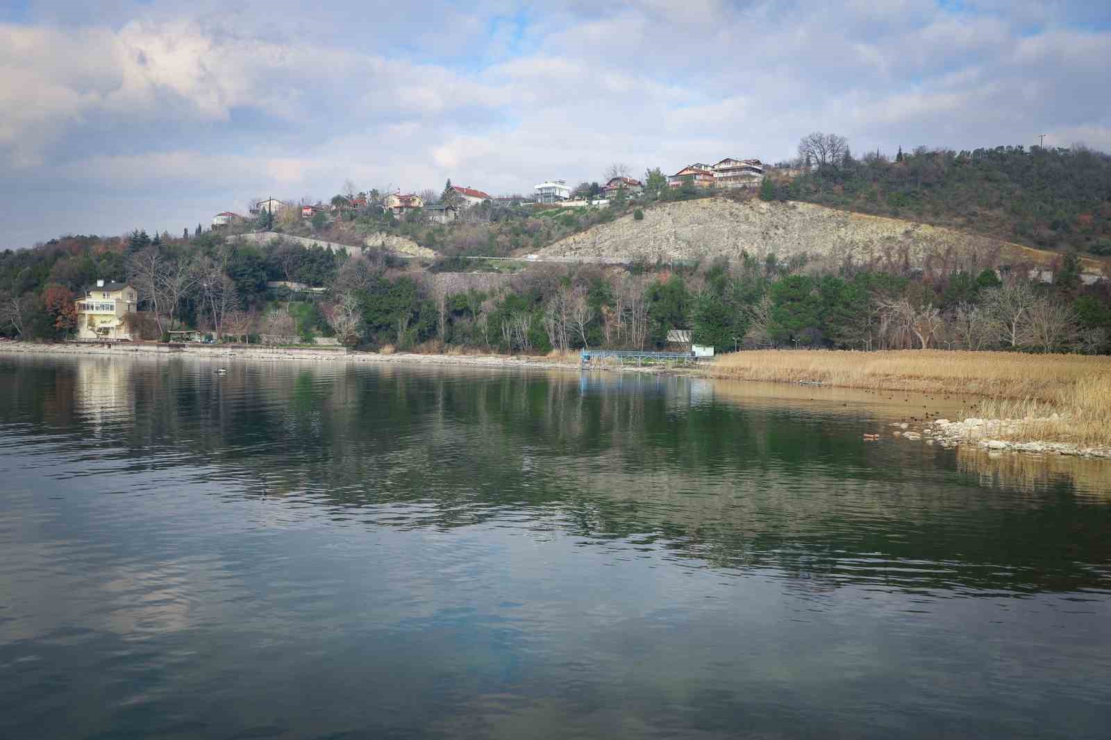
[[[0,0],[0,249],[252,198],[493,194],[820,130],[1111,151],[1111,3]]]

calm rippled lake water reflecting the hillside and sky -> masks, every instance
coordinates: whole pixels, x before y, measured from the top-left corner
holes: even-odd
[[[1111,467],[813,393],[0,356],[0,737],[1109,737]]]

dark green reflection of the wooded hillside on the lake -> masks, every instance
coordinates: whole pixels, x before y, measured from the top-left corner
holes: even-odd
[[[1078,481],[1019,456],[864,443],[867,406],[631,373],[224,364],[9,364],[4,427],[32,431],[9,436],[6,457],[49,456],[57,479],[141,473],[131,490],[216,483],[308,500],[319,508],[299,516],[371,526],[520,514],[829,587],[1102,588],[1111,562],[1102,463]],[[43,433],[59,428],[64,444]],[[1062,516],[1078,510],[1081,526]],[[1082,561],[1057,556],[1064,542]],[[893,564],[905,559],[940,564]]]

